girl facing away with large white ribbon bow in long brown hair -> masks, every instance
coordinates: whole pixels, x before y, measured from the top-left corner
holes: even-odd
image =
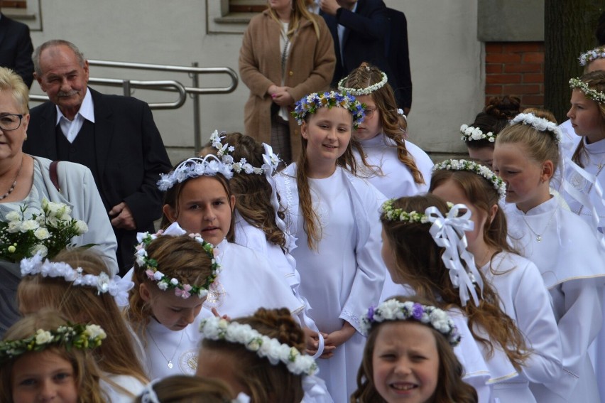
[[[532,402],[527,385],[504,385],[518,382],[527,348],[496,290],[465,249],[464,231],[473,228],[467,206],[449,208],[427,193],[387,200],[381,210],[382,256],[391,277],[452,316],[462,335],[454,353],[479,402]]]

